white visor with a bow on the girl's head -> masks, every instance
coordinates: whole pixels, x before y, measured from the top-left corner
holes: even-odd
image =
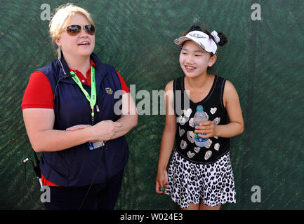
[[[218,33],[216,33],[216,31],[213,31],[212,35],[217,37],[216,41],[219,41]],[[214,42],[208,34],[205,34],[202,31],[191,31],[186,36],[181,36],[180,38],[174,40],[174,43],[176,43],[177,45],[181,45],[185,41],[194,41],[194,43],[197,43],[201,48],[206,50],[206,52],[213,52],[213,55],[215,55],[216,50],[218,50],[218,45],[216,45],[216,42]]]

